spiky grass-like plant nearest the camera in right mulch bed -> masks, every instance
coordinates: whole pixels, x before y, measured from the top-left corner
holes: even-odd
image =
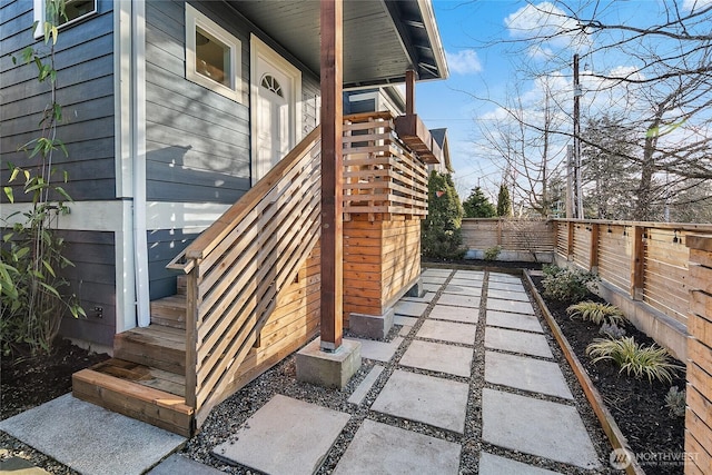
[[[586,355],[593,358],[593,363],[612,360],[635,378],[647,378],[649,382],[657,379],[672,384],[681,366],[671,363],[670,354],[665,348],[656,345],[639,345],[633,337],[607,339],[596,338],[586,347]]]

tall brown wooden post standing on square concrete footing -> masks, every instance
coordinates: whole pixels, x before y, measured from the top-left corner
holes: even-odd
[[[322,350],[342,346],[344,165],[342,0],[322,0]]]

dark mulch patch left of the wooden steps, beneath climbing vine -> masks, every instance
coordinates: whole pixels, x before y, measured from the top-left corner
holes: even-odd
[[[20,414],[71,390],[71,375],[107,359],[67,339],[59,339],[49,355],[31,356],[23,347],[0,359],[0,419]]]

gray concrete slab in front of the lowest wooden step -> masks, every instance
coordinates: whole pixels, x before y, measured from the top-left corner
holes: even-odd
[[[92,475],[144,473],[186,442],[71,394],[0,422],[0,431]]]

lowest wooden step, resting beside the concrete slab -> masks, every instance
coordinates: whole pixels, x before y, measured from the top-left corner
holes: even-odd
[[[164,385],[157,368],[134,365],[117,358],[72,375],[72,395],[119,414],[190,437],[194,409],[185,397],[157,389]],[[151,383],[152,382],[152,383]],[[175,386],[172,386],[175,388]],[[185,390],[185,380],[182,383]]]

